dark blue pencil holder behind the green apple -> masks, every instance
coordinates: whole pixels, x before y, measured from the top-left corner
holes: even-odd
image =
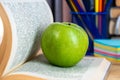
[[[93,40],[108,38],[109,12],[71,12],[72,22],[83,27],[89,35],[87,55],[93,55]]]

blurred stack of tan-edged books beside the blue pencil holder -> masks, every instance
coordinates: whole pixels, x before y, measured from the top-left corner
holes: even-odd
[[[119,38],[120,32],[120,1],[115,0],[115,6],[110,9],[109,34],[111,38]]]

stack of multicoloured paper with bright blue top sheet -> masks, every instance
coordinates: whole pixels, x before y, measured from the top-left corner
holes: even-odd
[[[94,55],[105,57],[113,63],[120,62],[120,40],[118,39],[95,39]]]

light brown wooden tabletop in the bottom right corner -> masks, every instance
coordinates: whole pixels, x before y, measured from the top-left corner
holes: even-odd
[[[120,64],[112,64],[106,80],[120,80]]]

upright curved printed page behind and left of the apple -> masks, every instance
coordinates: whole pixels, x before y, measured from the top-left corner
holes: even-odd
[[[7,73],[39,50],[41,33],[53,18],[45,0],[5,0],[1,4],[12,26],[11,56],[4,72]]]

